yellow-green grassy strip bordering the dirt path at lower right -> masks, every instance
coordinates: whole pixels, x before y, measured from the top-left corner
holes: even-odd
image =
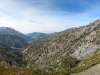
[[[100,63],[100,53],[99,54],[95,54],[93,56],[91,56],[90,58],[87,58],[84,61],[84,66],[77,66],[74,68],[70,68],[70,73],[79,73],[82,72],[84,70],[87,70],[91,67],[93,67],[94,65],[97,65]]]

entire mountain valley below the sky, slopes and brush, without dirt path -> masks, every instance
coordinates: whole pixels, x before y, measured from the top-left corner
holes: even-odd
[[[100,63],[100,20],[51,34],[1,27],[0,46],[1,65],[14,75],[84,75]]]

